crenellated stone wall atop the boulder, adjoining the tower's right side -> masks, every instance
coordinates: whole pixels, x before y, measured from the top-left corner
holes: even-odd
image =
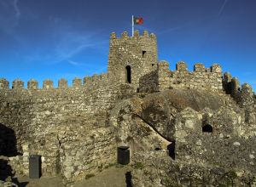
[[[157,71],[140,79],[140,92],[153,93],[170,88],[223,90],[221,67],[214,64],[208,69],[203,64],[195,64],[194,71],[189,72],[184,62],[178,62],[176,71],[170,71],[169,63],[160,61]]]

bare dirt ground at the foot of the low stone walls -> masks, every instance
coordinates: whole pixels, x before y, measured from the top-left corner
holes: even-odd
[[[17,178],[20,187],[64,187],[61,177]],[[79,181],[74,187],[131,187],[129,167],[109,167],[91,178]]]

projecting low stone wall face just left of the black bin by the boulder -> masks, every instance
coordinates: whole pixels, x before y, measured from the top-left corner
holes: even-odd
[[[72,185],[116,162],[117,148],[111,127],[91,131],[84,139],[61,141],[60,163],[64,184]]]

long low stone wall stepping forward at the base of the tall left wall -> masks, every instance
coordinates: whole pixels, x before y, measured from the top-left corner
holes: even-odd
[[[80,130],[79,130],[80,128]],[[59,127],[33,143],[23,145],[23,156],[6,157],[16,176],[28,176],[29,156],[39,155],[42,175],[61,174],[70,186],[86,175],[96,174],[116,162],[113,127],[87,131],[81,127]]]

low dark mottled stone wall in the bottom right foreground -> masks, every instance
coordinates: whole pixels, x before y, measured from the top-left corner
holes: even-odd
[[[256,173],[201,162],[173,161],[166,152],[137,152],[133,161],[131,180],[135,187],[256,185]]]

